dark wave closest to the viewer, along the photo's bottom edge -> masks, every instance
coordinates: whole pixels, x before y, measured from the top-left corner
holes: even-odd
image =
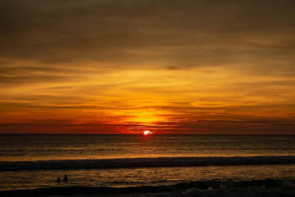
[[[33,190],[11,190],[0,192],[1,197],[11,196],[97,196],[124,194],[132,197],[294,197],[295,180],[252,180],[252,181],[196,181],[170,186],[138,187],[54,187]]]

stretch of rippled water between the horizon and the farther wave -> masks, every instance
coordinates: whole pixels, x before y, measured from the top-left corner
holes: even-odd
[[[0,135],[0,161],[295,155],[295,135]]]

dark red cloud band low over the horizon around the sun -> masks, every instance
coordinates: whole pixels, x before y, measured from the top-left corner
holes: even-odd
[[[68,120],[65,120],[67,122]],[[281,131],[280,133],[285,134],[291,134],[292,128],[294,128],[294,124],[292,123],[284,123],[281,121],[249,121],[249,122],[243,122],[243,124],[235,124],[233,126],[223,127],[222,125],[218,124],[226,124],[226,123],[240,123],[235,121],[198,121],[198,122],[154,122],[153,125],[149,124],[143,124],[138,122],[125,122],[123,124],[62,124],[57,122],[56,120],[39,120],[34,121],[34,123],[5,123],[0,124],[0,131],[2,133],[7,133],[9,130],[14,131],[17,129],[22,128],[23,130],[27,132],[32,131],[39,131],[42,129],[43,133],[51,132],[52,129],[56,129],[56,131],[59,131],[61,133],[67,133],[70,131],[73,133],[73,128],[77,128],[77,132],[84,132],[84,133],[91,133],[94,132],[102,132],[102,133],[108,133],[110,131],[132,131],[131,133],[134,133],[134,131],[142,132],[144,129],[150,129],[153,131],[159,131],[161,133],[196,133],[196,131],[199,131],[198,133],[236,133],[236,130],[239,129],[239,131],[243,131],[242,133],[248,133],[248,134],[257,134],[257,133],[264,133],[264,134],[271,134],[276,133],[277,131]],[[260,123],[262,127],[258,128],[252,128],[250,131],[248,127],[244,126],[244,124],[255,124]],[[204,125],[205,124],[205,125]],[[217,124],[217,125],[216,125]],[[277,127],[271,127],[267,128],[267,131],[265,130],[267,125],[271,126],[277,126]],[[283,127],[283,128],[282,128]],[[101,129],[104,130],[101,130]],[[109,128],[109,129],[106,129]],[[115,129],[116,128],[116,129]],[[29,129],[29,130],[28,130]],[[261,130],[264,129],[264,130]],[[290,130],[291,129],[291,130]],[[83,131],[85,130],[85,131]],[[17,133],[17,131],[14,131]],[[9,133],[9,132],[8,132]]]

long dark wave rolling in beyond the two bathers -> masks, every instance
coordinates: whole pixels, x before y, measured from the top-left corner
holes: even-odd
[[[66,169],[66,168],[131,168],[180,167],[198,165],[295,164],[295,156],[252,157],[159,157],[95,160],[47,160],[0,162],[0,170]]]

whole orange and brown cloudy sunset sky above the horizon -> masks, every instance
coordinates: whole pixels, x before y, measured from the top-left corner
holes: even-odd
[[[295,134],[295,0],[0,0],[0,133]]]

